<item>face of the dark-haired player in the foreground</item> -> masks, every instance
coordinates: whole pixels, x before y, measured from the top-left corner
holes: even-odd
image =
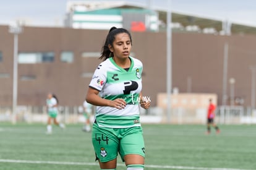
[[[132,43],[127,33],[119,33],[115,36],[113,46],[109,45],[109,49],[113,52],[114,57],[118,59],[126,59],[130,55]]]

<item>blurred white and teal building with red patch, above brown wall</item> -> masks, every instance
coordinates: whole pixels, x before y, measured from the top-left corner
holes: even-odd
[[[145,32],[158,31],[158,14],[148,9],[111,8],[90,10],[73,6],[67,13],[65,26],[94,30],[109,30],[115,26]]]

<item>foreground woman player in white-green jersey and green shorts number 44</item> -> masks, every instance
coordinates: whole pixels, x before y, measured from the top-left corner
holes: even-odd
[[[86,100],[96,107],[92,143],[101,169],[116,169],[117,154],[127,170],[143,170],[145,147],[139,105],[143,101],[142,62],[129,56],[132,37],[124,28],[112,27],[101,50],[104,61],[96,68]]]

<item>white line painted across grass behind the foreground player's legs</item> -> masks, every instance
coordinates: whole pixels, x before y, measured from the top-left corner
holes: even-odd
[[[79,163],[79,162],[60,162],[60,161],[30,161],[30,160],[15,160],[15,159],[0,159],[2,163],[32,163],[32,164],[69,164],[69,165],[91,165],[98,166],[98,163]],[[117,164],[124,166],[124,164]],[[232,168],[200,168],[190,166],[160,166],[146,164],[145,168],[158,168],[158,169],[192,169],[192,170],[252,170],[252,169],[232,169]]]

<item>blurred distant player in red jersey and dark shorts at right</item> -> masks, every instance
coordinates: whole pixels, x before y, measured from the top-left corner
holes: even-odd
[[[209,100],[209,106],[208,106],[208,114],[207,114],[207,134],[211,133],[211,126],[216,129],[216,133],[220,133],[219,127],[214,123],[214,117],[215,117],[215,104],[212,103],[212,100],[210,98]]]

